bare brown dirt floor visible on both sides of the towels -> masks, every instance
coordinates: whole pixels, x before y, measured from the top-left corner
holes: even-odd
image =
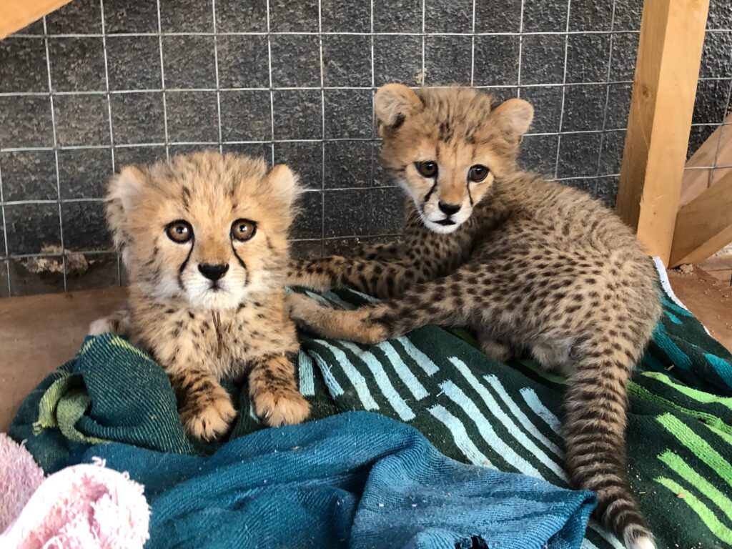
[[[732,288],[701,269],[672,271],[682,302],[732,351]],[[81,347],[89,322],[126,299],[124,288],[0,299],[0,430],[23,398]]]

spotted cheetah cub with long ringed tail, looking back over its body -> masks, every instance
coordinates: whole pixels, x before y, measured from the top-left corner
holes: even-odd
[[[529,353],[569,378],[569,477],[628,548],[654,547],[627,482],[630,371],[660,316],[654,266],[629,228],[585,193],[517,171],[533,109],[474,89],[387,84],[376,93],[386,168],[408,195],[404,242],[370,257],[296,262],[288,283],[384,299],[333,310],[293,294],[296,318],[376,343],[425,324],[469,326],[489,356]],[[400,261],[379,261],[397,253]]]

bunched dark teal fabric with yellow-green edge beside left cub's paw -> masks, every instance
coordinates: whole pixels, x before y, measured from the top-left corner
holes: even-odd
[[[145,351],[109,334],[87,337],[74,359],[26,397],[10,434],[27,441],[49,474],[78,463],[100,441],[160,452],[196,451],[163,369]]]

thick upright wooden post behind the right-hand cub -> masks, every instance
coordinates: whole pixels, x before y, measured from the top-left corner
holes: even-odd
[[[616,212],[668,264],[709,0],[643,2]]]

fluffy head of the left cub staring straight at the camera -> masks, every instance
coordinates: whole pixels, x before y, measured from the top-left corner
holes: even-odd
[[[202,152],[111,182],[108,218],[132,285],[158,300],[230,310],[281,283],[298,192],[284,165]]]

